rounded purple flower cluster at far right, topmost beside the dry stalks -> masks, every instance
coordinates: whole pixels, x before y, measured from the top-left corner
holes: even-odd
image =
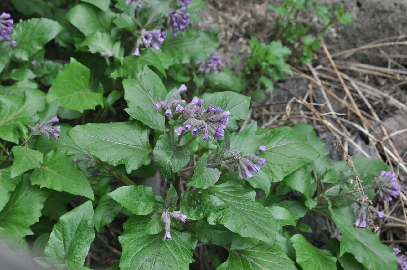
[[[401,185],[397,184],[397,176],[391,171],[381,171],[379,177],[374,178],[374,189],[379,194],[379,199],[392,200],[397,198],[401,191]]]

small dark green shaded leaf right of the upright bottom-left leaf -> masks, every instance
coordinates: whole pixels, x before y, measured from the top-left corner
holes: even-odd
[[[100,232],[103,226],[112,222],[123,207],[108,194],[103,195],[95,209],[95,229]]]

